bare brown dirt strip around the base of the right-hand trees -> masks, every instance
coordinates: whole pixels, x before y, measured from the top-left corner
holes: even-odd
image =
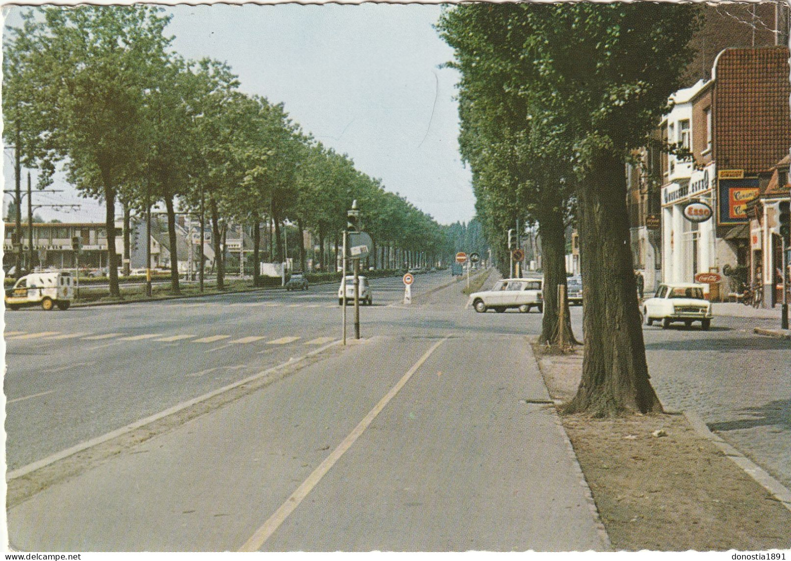
[[[570,400],[581,349],[533,348],[553,400]],[[791,548],[791,511],[684,415],[561,419],[615,551]]]

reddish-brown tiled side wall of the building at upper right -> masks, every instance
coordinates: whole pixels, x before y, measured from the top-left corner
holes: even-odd
[[[714,158],[719,169],[762,172],[791,146],[787,47],[727,49],[713,95]]]

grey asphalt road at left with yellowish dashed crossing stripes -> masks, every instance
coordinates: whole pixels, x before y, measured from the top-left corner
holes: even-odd
[[[418,275],[416,298],[454,279]],[[407,310],[401,279],[372,279],[361,335],[391,332]],[[7,312],[9,471],[96,438],[342,337],[337,286]],[[417,304],[417,302],[416,302]],[[354,337],[354,307],[347,337]]]

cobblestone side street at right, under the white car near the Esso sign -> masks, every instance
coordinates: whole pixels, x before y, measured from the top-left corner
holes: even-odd
[[[791,341],[753,332],[778,329],[779,309],[721,304],[714,313],[708,332],[699,324],[643,328],[651,383],[666,410],[694,411],[791,488]],[[573,308],[578,337],[581,317]]]

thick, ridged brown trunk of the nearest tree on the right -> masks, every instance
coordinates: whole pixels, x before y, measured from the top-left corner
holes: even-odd
[[[660,412],[645,362],[623,161],[604,150],[594,154],[577,196],[585,354],[582,380],[566,411]]]

